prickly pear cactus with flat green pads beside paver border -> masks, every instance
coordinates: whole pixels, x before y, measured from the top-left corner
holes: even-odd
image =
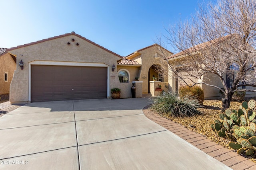
[[[220,120],[211,125],[219,137],[229,139],[228,145],[238,154],[252,155],[256,150],[256,102],[242,102],[239,109],[226,109],[220,113]]]

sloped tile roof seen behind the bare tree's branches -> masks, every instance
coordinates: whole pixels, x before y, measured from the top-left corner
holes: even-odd
[[[189,49],[185,49],[184,51],[181,51],[179,53],[171,55],[170,57],[168,57],[168,59],[172,59],[172,58],[175,58],[175,57],[179,57],[179,56],[182,56],[182,55],[186,55],[186,54],[189,54],[189,53],[194,53],[194,52],[200,51],[200,50],[208,47],[211,44],[214,44],[214,43],[217,43],[217,42],[220,42],[220,41],[224,41],[228,37],[230,37],[230,35],[226,35],[224,37],[216,38],[216,39],[213,39],[211,41],[207,41],[207,42],[195,45],[194,47],[191,47]]]

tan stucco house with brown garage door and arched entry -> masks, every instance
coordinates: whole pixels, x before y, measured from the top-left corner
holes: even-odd
[[[152,75],[159,77],[152,69],[160,64],[155,46],[122,57],[72,32],[7,49],[17,57],[10,102],[111,98],[112,88],[121,89],[121,98],[131,98],[136,77],[136,97],[142,97]]]

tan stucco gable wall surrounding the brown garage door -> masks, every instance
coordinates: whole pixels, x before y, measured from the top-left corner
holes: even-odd
[[[75,39],[72,42],[72,39]],[[70,45],[67,43],[70,42]],[[79,43],[79,46],[76,45]],[[78,64],[106,64],[109,68],[108,75],[108,97],[111,97],[110,89],[119,84],[116,69],[112,72],[112,65],[116,64],[120,57],[88,42],[76,35],[68,35],[42,43],[21,47],[9,51],[17,55],[17,70],[10,86],[10,102],[26,103],[29,101],[29,63],[33,61],[66,62]],[[20,69],[18,63],[24,62],[24,70]],[[115,78],[110,78],[115,76]]]

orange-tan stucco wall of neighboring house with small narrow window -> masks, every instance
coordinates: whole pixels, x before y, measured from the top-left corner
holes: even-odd
[[[9,53],[0,56],[0,94],[8,94],[10,92],[10,83],[16,63]],[[8,72],[8,80],[5,82],[4,73]]]

